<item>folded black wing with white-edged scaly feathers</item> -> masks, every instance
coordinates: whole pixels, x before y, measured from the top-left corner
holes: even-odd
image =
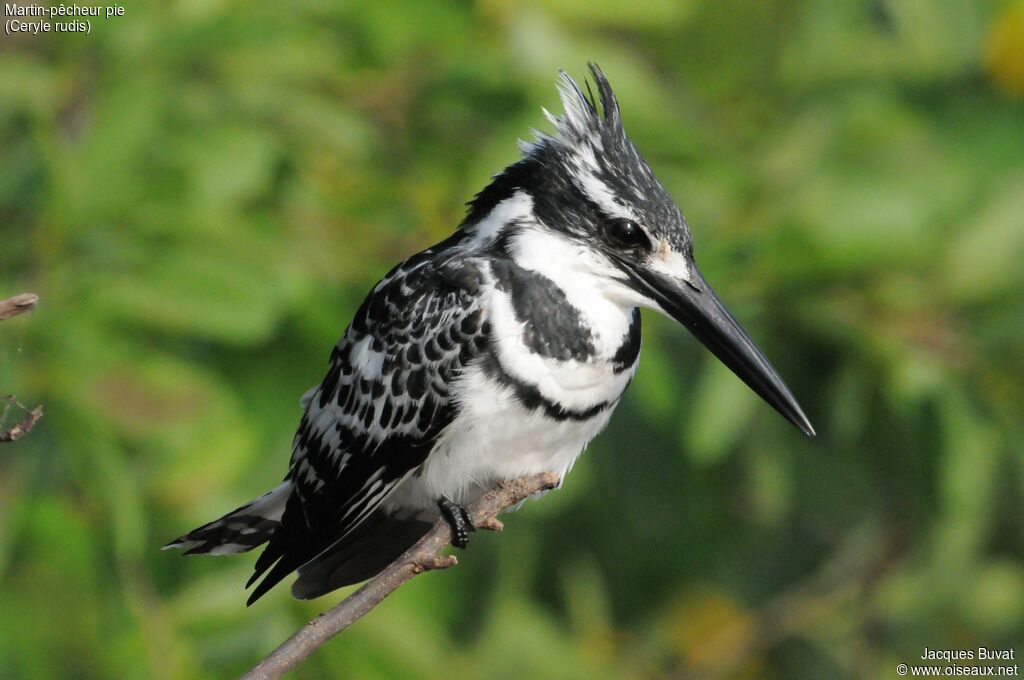
[[[364,301],[323,384],[303,397],[292,494],[250,603],[353,532],[426,460],[455,418],[452,380],[486,342],[481,284],[472,260],[428,250]]]

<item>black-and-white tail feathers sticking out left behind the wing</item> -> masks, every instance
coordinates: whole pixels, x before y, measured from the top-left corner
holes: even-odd
[[[171,541],[164,550],[181,548],[186,555],[228,555],[252,550],[269,541],[274,529],[281,526],[281,516],[291,492],[292,482],[286,480],[220,519]]]

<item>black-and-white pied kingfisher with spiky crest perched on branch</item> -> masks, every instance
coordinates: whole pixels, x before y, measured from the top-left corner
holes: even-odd
[[[293,572],[299,599],[373,578],[438,517],[465,548],[467,504],[522,475],[564,480],[607,425],[637,369],[642,307],[814,436],[697,269],[686,219],[589,70],[586,91],[559,72],[563,113],[542,110],[554,131],[521,140],[450,237],[370,291],[300,400],[284,481],[165,548],[266,544],[248,604]]]

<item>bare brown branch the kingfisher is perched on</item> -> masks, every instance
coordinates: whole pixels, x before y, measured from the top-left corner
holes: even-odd
[[[469,507],[473,525],[495,532],[502,529],[498,513],[520,503],[539,492],[554,488],[558,475],[545,472],[512,481],[504,481],[490,490]],[[444,519],[438,519],[427,535],[407,550],[390,566],[378,573],[365,586],[346,597],[340,604],[322,613],[302,627],[295,635],[242,676],[242,680],[270,680],[280,678],[298,666],[322,644],[342,632],[359,618],[380,604],[381,600],[397,590],[413,577],[443,569],[458,563],[455,555],[441,551],[452,542],[452,530]]]

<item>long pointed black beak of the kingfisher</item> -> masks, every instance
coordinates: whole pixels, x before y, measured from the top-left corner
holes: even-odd
[[[739,326],[739,322],[733,318],[718,299],[692,262],[689,282],[681,282],[631,262],[621,263],[644,294],[653,298],[669,315],[689,329],[705,347],[762,399],[805,434],[814,436],[811,421],[804,415],[790,388],[768,363],[764,352]]]

